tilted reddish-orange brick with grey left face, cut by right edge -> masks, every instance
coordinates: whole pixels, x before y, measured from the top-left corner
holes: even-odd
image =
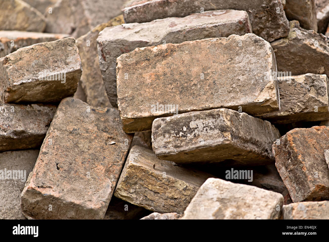
[[[275,165],[294,203],[329,199],[329,128],[293,129],[273,144]]]

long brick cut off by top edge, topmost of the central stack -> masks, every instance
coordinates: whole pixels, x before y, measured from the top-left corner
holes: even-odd
[[[131,0],[122,9],[126,23],[149,22],[166,17],[184,17],[191,13],[219,9],[248,12],[253,33],[267,41],[288,36],[289,24],[279,0]]]

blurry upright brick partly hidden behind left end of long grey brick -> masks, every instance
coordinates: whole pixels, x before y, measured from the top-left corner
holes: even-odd
[[[96,26],[86,35],[76,40],[83,68],[81,85],[86,93],[87,103],[91,106],[112,108],[105,91],[102,74],[99,68],[96,39],[99,32],[104,28],[123,23],[123,16],[117,16],[107,23]]]

